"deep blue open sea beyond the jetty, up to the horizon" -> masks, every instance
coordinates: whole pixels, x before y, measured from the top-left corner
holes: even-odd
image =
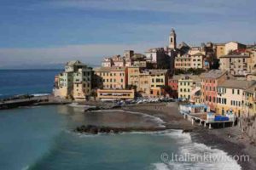
[[[60,70],[0,70],[0,98],[16,94],[49,94]]]

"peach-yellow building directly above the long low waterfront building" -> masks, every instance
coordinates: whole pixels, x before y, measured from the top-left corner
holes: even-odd
[[[124,89],[127,85],[127,72],[125,67],[95,68],[95,81],[97,88]]]

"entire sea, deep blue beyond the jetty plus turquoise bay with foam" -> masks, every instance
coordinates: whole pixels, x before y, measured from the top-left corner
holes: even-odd
[[[49,94],[58,72],[0,71],[0,94]],[[96,135],[73,131],[88,124],[147,127],[163,126],[164,122],[140,112],[84,113],[73,105],[0,111],[0,169],[241,169],[223,150],[195,143],[189,133],[181,130]],[[201,160],[202,157],[221,159]]]

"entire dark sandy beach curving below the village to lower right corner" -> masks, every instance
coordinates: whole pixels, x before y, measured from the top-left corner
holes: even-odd
[[[191,122],[183,119],[177,108],[177,103],[169,103],[167,105],[160,103],[125,106],[124,110],[139,111],[160,117],[160,119],[166,122],[166,128],[191,129],[193,131],[190,133],[191,138],[195,142],[224,150],[230,156],[249,156],[249,161],[238,161],[238,163],[242,169],[256,169],[256,146],[252,144],[246,134],[241,133],[239,127],[208,129],[197,124],[192,126]]]

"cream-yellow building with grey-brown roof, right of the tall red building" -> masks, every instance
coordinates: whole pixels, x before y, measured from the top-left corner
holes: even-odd
[[[254,82],[243,80],[226,80],[218,84],[217,113],[224,115],[227,111],[241,116],[244,105],[244,92]]]

